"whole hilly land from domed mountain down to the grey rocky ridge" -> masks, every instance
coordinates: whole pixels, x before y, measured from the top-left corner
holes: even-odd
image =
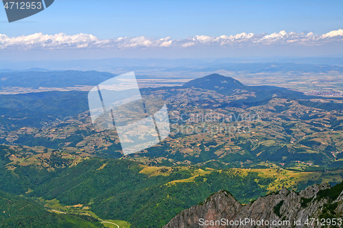
[[[163,227],[220,190],[246,205],[284,189],[343,181],[340,97],[247,86],[218,74],[141,94],[166,102],[171,133],[125,156],[117,131],[91,124],[84,91],[0,95],[6,199],[29,200],[51,220],[89,227]]]

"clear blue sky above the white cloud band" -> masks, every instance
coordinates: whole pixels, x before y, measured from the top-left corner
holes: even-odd
[[[241,33],[274,34],[283,30],[297,34],[313,32],[319,37],[330,31],[343,29],[342,11],[341,0],[55,0],[47,10],[14,23],[8,23],[5,10],[0,10],[0,34],[8,38],[36,33],[63,33],[67,36],[90,34],[100,40],[140,36],[158,40],[170,37],[173,43],[174,40],[202,35],[216,38]],[[338,35],[335,36],[335,45],[338,42],[341,48],[333,47],[334,54],[343,53],[342,42],[340,39],[337,41],[340,32]],[[259,52],[252,51],[247,54],[256,55]],[[274,53],[276,54],[277,50]],[[320,55],[320,51],[313,55]],[[329,52],[323,52],[322,55],[329,55]]]

